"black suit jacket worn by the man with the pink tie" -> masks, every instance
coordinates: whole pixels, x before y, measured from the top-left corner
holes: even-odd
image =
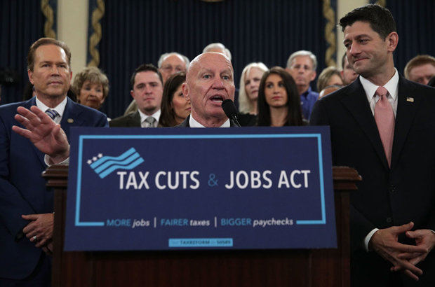
[[[363,178],[351,193],[352,286],[391,283],[391,263],[362,248],[373,228],[413,221],[414,229],[435,230],[435,89],[400,76],[398,97],[391,169],[359,78],[317,101],[310,118],[330,125],[333,165],[354,167]],[[433,253],[417,265],[424,272],[418,286],[435,286]]]

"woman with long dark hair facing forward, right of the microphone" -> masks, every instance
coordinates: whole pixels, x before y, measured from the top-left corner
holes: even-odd
[[[258,90],[260,127],[306,125],[302,120],[300,96],[295,80],[279,66],[266,71]]]

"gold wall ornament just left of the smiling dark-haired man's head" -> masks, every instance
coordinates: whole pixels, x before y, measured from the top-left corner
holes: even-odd
[[[330,0],[323,0],[323,17],[328,21],[325,27],[325,40],[329,44],[329,48],[326,50],[325,63],[326,66],[336,66],[333,55],[336,50],[336,37],[337,31],[335,25],[335,11],[330,6]]]

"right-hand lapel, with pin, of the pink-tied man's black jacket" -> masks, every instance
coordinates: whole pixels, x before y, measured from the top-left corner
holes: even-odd
[[[400,76],[399,92],[397,95],[397,113],[396,124],[394,126],[393,151],[391,153],[391,167],[399,160],[399,155],[405,144],[413,119],[420,106],[421,96],[415,93],[415,86],[408,83],[407,80]],[[413,102],[408,102],[407,97],[412,97]]]

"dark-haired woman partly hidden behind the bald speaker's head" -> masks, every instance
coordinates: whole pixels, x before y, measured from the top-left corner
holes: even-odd
[[[190,101],[182,94],[182,83],[186,81],[186,72],[171,75],[163,87],[161,97],[161,115],[159,127],[180,125],[190,113]]]

